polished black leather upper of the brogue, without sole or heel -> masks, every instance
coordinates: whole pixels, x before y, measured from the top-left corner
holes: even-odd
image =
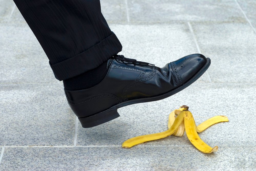
[[[205,56],[192,54],[160,68],[112,58],[99,84],[65,94],[74,113],[87,117],[125,101],[165,94],[186,83],[206,61]]]

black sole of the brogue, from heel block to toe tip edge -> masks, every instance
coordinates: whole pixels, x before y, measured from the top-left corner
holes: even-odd
[[[111,121],[115,118],[118,118],[120,116],[119,113],[117,112],[118,108],[132,105],[132,104],[137,104],[137,103],[157,101],[157,100],[161,100],[161,99],[170,97],[170,96],[180,92],[181,90],[187,88],[189,85],[191,85],[193,82],[195,82],[199,77],[201,77],[203,75],[204,72],[206,72],[206,70],[209,68],[210,64],[211,64],[211,60],[210,60],[210,58],[207,58],[206,64],[190,80],[188,80],[183,85],[181,85],[165,94],[161,94],[159,96],[124,101],[124,102],[119,103],[115,106],[112,106],[104,111],[98,112],[94,115],[82,117],[82,118],[78,118],[78,119],[81,122],[83,128],[91,128],[91,127],[95,127],[97,125],[103,124],[105,122]]]

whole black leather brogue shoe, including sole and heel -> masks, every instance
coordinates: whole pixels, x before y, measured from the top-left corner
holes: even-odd
[[[65,90],[65,94],[82,126],[90,128],[119,117],[120,107],[178,93],[196,81],[210,63],[201,54],[191,54],[160,68],[115,55],[109,59],[108,73],[99,84],[84,90]]]

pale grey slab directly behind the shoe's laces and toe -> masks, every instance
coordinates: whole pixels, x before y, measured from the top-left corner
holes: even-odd
[[[163,67],[183,56],[198,53],[187,23],[159,25],[110,25],[127,58]],[[199,82],[209,82],[204,74]]]

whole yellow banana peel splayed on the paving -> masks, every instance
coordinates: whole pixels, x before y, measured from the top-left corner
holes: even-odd
[[[226,116],[214,116],[203,123],[196,126],[192,113],[188,110],[188,106],[181,106],[179,109],[173,110],[169,115],[168,130],[160,133],[141,135],[126,140],[123,144],[123,148],[130,148],[134,145],[145,143],[148,141],[158,140],[170,135],[182,136],[186,131],[189,141],[201,152],[212,153],[218,150],[218,146],[210,147],[203,142],[198,133],[204,131],[208,127],[219,122],[228,122]]]

